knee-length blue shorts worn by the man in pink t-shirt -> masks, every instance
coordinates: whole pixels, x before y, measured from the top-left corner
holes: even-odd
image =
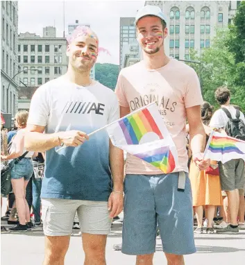
[[[155,253],[157,225],[164,253],[196,252],[192,190],[188,174],[185,175],[185,191],[177,190],[178,173],[126,175],[122,253]]]

